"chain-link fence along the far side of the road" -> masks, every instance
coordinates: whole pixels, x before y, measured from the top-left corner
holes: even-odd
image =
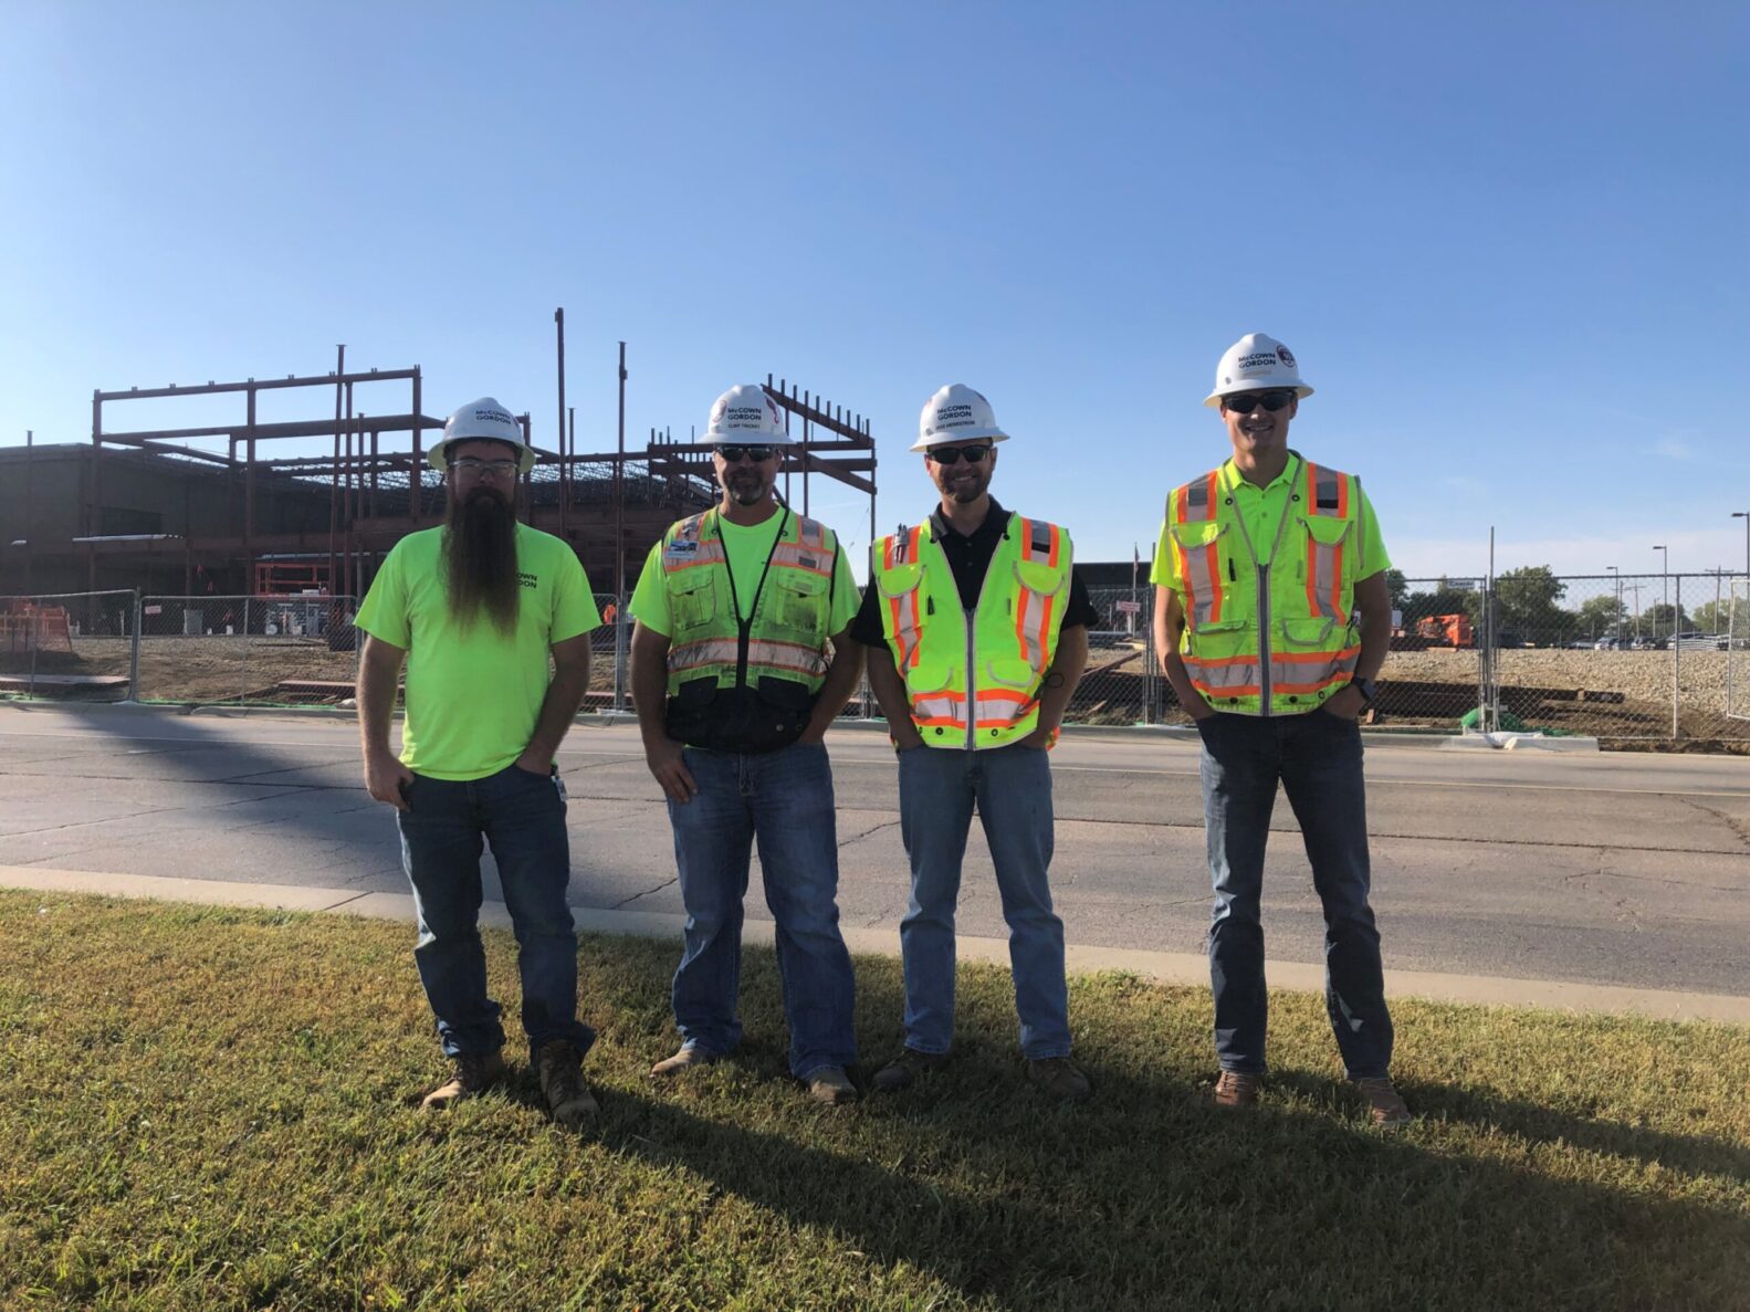
[[[1750,581],[1727,574],[1393,583],[1370,728],[1750,743]],[[1160,673],[1153,588],[1094,588],[1074,724],[1186,722]],[[598,593],[588,707],[630,710],[632,619]],[[350,597],[0,597],[0,696],[334,705],[352,696]],[[866,686],[850,714],[878,712]]]

